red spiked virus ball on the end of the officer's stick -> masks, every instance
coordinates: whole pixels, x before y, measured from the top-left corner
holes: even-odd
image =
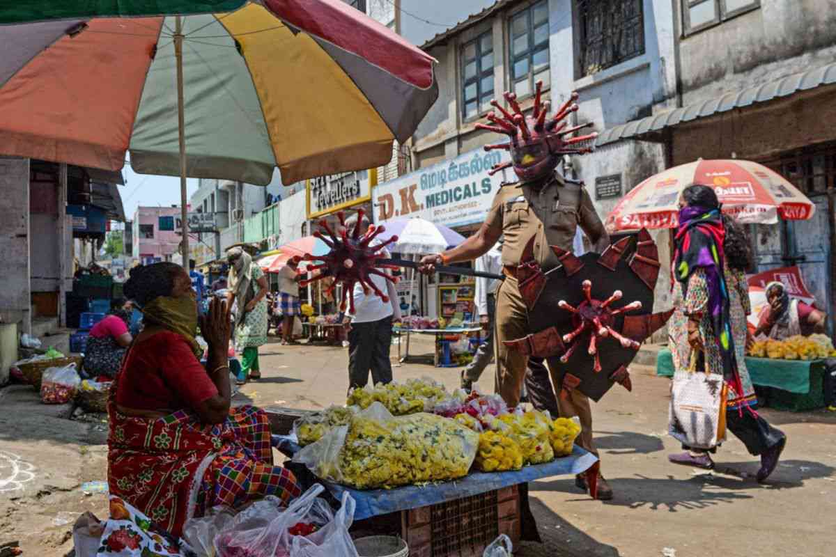
[[[364,235],[360,235],[360,222],[363,220],[363,211],[359,210],[357,213],[357,224],[354,225],[353,230],[350,230],[350,233],[349,230],[346,230],[345,215],[342,211],[337,213],[339,224],[342,225],[342,230],[339,230],[339,234],[331,230],[327,220],[319,220],[319,230],[314,232],[314,236],[324,241],[325,245],[329,247],[329,253],[327,255],[312,256],[305,254],[304,256],[294,257],[297,262],[324,261],[319,265],[308,266],[308,272],[319,272],[306,280],[302,280],[298,276],[297,281],[299,286],[308,286],[311,282],[321,281],[326,276],[333,276],[334,284],[339,282],[344,286],[339,311],[345,311],[345,301],[348,298],[349,309],[352,313],[354,313],[354,296],[350,296],[349,292],[354,291],[354,285],[359,284],[362,286],[366,294],[373,291],[383,301],[389,301],[389,296],[386,296],[380,291],[380,288],[375,286],[375,283],[371,281],[371,276],[383,276],[387,281],[395,282],[393,277],[387,275],[381,269],[397,268],[383,265],[379,260],[384,259],[383,248],[398,241],[398,237],[392,236],[385,242],[371,246],[371,242],[375,237],[386,229],[383,225],[370,225],[369,230],[366,230]],[[323,230],[325,234],[323,234]],[[328,235],[328,237],[326,238],[325,235]],[[329,288],[329,293],[334,294],[334,286]]]

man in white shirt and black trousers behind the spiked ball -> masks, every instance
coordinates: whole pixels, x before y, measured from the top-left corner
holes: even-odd
[[[345,230],[354,230],[357,215],[345,221]],[[369,219],[360,219],[359,234],[369,230]],[[338,234],[340,232],[338,231]],[[372,246],[375,245],[372,241]],[[383,250],[384,257],[390,257]],[[388,271],[387,271],[388,272]],[[388,301],[383,301],[374,292],[366,294],[363,286],[354,284],[354,314],[347,314],[344,323],[349,327],[349,389],[365,387],[371,372],[372,384],[392,381],[392,362],[389,358],[392,346],[392,322],[400,321],[400,304],[395,286],[382,276],[372,275],[370,280],[381,292],[386,292]]]

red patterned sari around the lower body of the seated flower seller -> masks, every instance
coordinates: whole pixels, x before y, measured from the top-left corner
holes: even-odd
[[[121,375],[121,372],[120,372]],[[125,416],[110,390],[108,484],[175,535],[187,519],[215,505],[235,508],[263,495],[285,502],[300,489],[289,470],[273,466],[270,424],[258,408],[232,408],[224,423],[201,424],[179,410],[163,418]]]

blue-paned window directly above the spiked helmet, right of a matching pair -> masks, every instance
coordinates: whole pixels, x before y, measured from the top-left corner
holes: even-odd
[[[543,80],[548,89],[548,2],[542,0],[515,13],[509,23],[511,84],[517,97],[532,94],[534,84]]]

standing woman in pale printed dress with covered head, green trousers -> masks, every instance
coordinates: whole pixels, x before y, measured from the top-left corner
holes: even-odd
[[[227,262],[227,301],[230,306],[235,302],[235,343],[238,350],[242,351],[241,377],[238,377],[238,382],[243,383],[250,378],[261,379],[258,347],[267,343],[268,284],[264,271],[241,247],[227,250]]]

